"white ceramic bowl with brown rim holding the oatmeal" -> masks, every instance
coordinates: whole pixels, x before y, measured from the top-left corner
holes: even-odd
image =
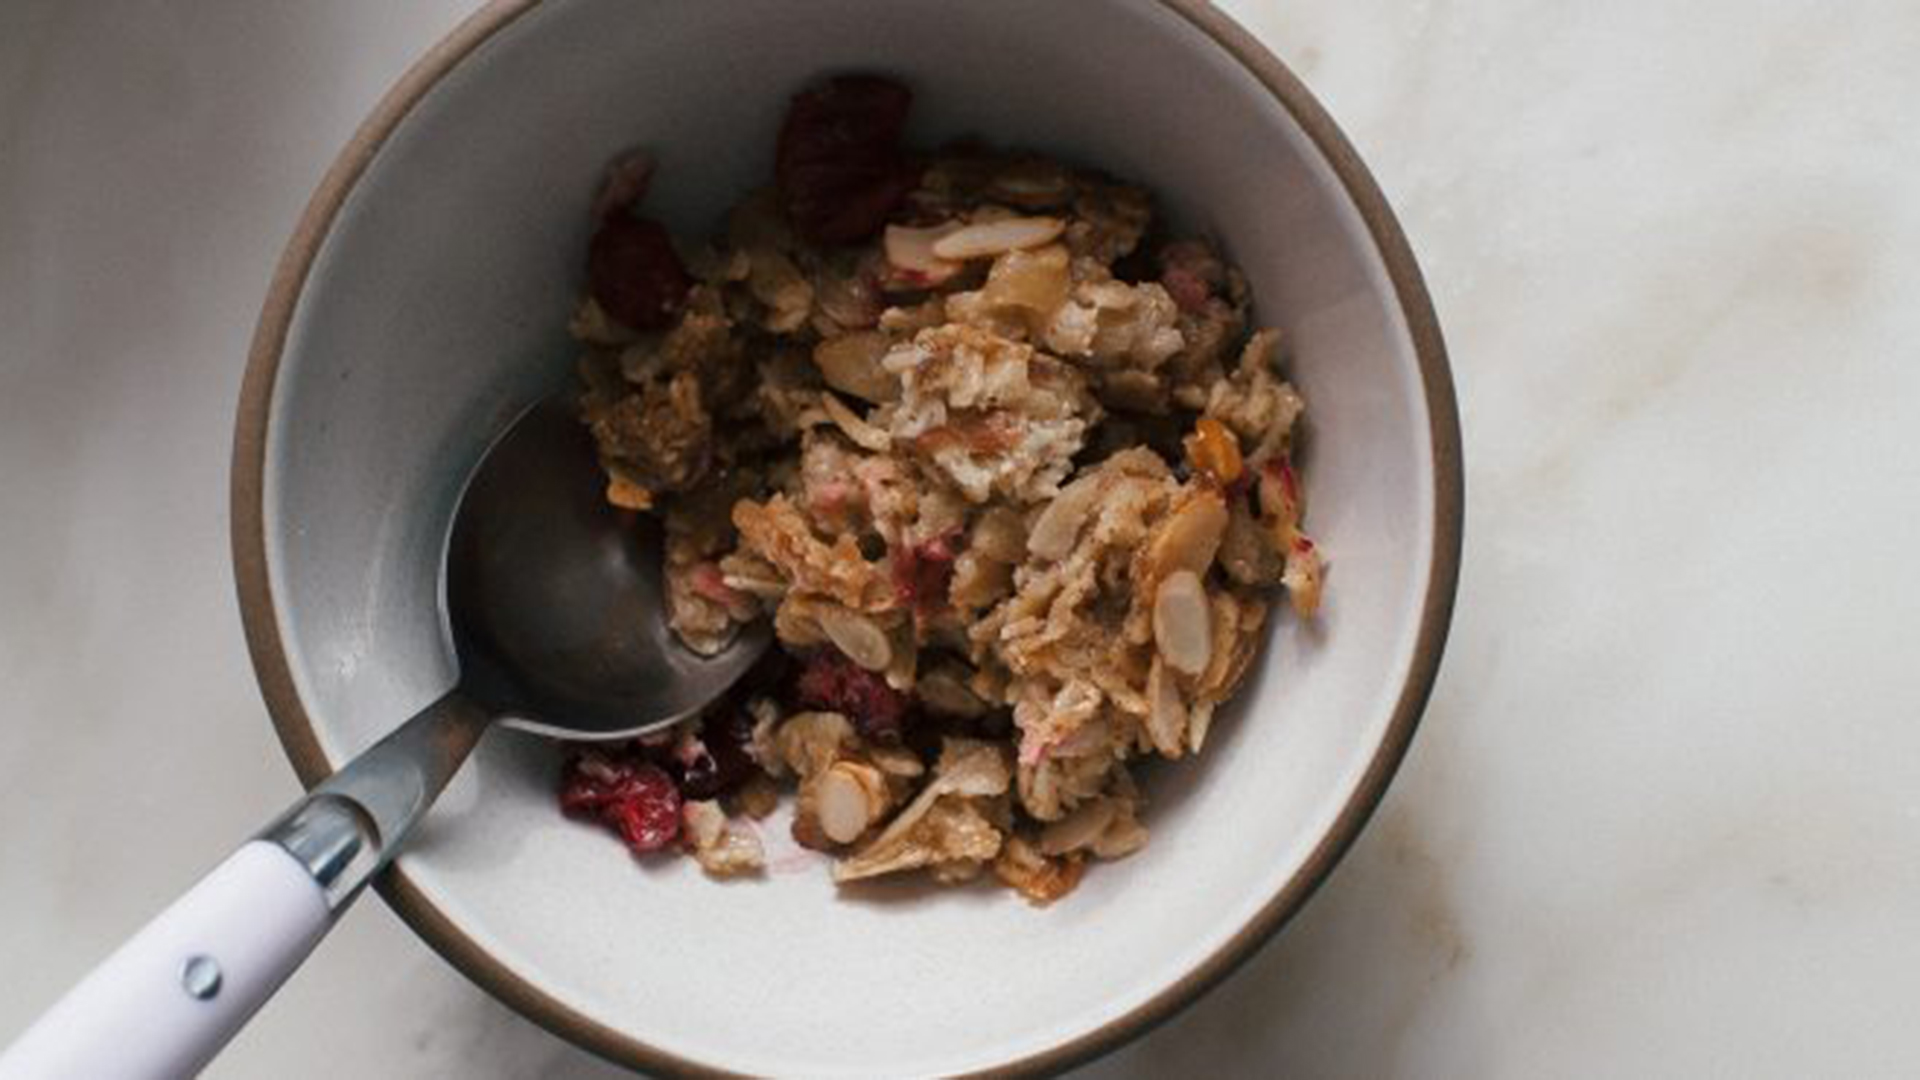
[[[328,173],[275,279],[236,434],[253,661],[305,782],[453,680],[455,484],[570,379],[588,200],[618,150],[684,233],[770,173],[787,96],[839,69],[960,133],[1148,184],[1225,242],[1309,402],[1327,607],[1281,619],[1154,842],[1033,909],[1004,890],[835,896],[822,867],[714,884],[555,809],[553,748],[493,732],[388,901],[478,984],[664,1070],[1050,1070],[1190,1001],[1329,872],[1405,751],[1446,636],[1459,436],[1413,258],[1308,92],[1192,0],[513,0],[428,54]]]

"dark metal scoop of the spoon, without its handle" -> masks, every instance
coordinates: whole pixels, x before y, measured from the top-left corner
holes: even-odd
[[[605,740],[684,721],[766,650],[764,623],[699,655],[662,613],[660,527],[612,507],[561,398],[515,421],[461,496],[445,596],[461,694],[501,723]]]

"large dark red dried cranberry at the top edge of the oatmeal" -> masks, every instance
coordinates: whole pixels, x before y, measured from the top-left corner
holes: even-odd
[[[793,96],[774,179],[801,236],[852,244],[887,223],[920,183],[900,152],[912,102],[906,86],[876,75],[841,75]]]

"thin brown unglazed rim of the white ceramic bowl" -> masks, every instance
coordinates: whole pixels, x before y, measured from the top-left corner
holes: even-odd
[[[346,148],[334,158],[301,211],[300,221],[294,225],[294,234],[288,238],[275,267],[248,350],[234,423],[228,490],[234,582],[248,653],[252,655],[261,698],[265,700],[280,746],[294,765],[294,773],[300,776],[301,786],[309,790],[328,776],[336,765],[321,749],[313,721],[294,686],[288,653],[280,640],[276,603],[267,567],[265,515],[267,425],[294,311],[313,261],[342,204],[378,156],[388,136],[407,119],[420,98],[459,67],[461,61],[541,2],[488,2],[420,56],[380,98],[367,119],[355,129]],[[1452,625],[1453,596],[1459,584],[1465,515],[1459,407],[1453,394],[1446,344],[1440,336],[1440,323],[1400,223],[1373,175],[1359,160],[1359,154],[1346,140],[1338,125],[1334,125],[1327,110],[1319,106],[1306,85],[1260,44],[1252,33],[1215,10],[1210,0],[1154,2],[1202,31],[1260,81],[1275,102],[1302,127],[1359,211],[1375,250],[1386,267],[1394,296],[1400,302],[1427,398],[1434,467],[1432,573],[1427,596],[1421,601],[1421,625],[1407,678],[1402,684],[1380,744],[1375,748],[1359,784],[1348,796],[1332,826],[1315,844],[1300,871],[1219,949],[1171,980],[1144,1003],[1098,1028],[1018,1061],[995,1065],[975,1072],[977,1076],[987,1072],[995,1076],[1054,1074],[1117,1049],[1121,1043],[1165,1022],[1227,978],[1300,911],[1373,817],[1388,782],[1407,753],[1421,713],[1432,694],[1434,678],[1438,676],[1440,657],[1446,650]],[[492,957],[484,945],[434,907],[399,865],[380,874],[376,890],[447,963],[549,1032],[630,1068],[687,1076],[733,1076],[733,1072],[712,1065],[668,1053],[566,1007]]]

